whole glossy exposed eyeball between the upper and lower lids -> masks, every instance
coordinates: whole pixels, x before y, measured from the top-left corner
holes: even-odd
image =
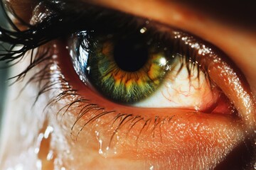
[[[225,95],[210,81],[209,63],[201,62],[215,51],[188,33],[159,27],[74,33],[70,57],[80,79],[116,103],[215,110]]]

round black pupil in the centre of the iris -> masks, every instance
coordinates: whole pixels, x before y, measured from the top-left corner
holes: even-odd
[[[136,72],[148,60],[148,49],[144,42],[138,39],[119,40],[114,47],[114,60],[117,66],[126,72]]]

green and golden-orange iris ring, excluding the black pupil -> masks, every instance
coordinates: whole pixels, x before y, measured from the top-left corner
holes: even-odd
[[[167,59],[163,53],[149,52],[149,60],[136,72],[126,72],[114,61],[114,44],[111,41],[102,43],[97,56],[92,57],[96,74],[94,80],[97,88],[114,101],[129,103],[140,101],[150,96],[159,88],[166,75]],[[136,62],[136,61],[134,61]],[[96,65],[96,66],[95,66]],[[92,70],[92,69],[91,69]]]

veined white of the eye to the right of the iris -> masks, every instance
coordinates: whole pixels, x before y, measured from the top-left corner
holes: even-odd
[[[178,62],[154,94],[144,101],[134,103],[133,106],[142,108],[193,108],[200,111],[213,103],[216,96],[211,91],[205,74],[195,67],[189,75],[186,66],[184,66],[176,76],[180,67],[181,63]],[[198,81],[198,72],[200,72],[200,81]]]

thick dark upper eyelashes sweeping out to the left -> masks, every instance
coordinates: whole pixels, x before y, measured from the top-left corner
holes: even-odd
[[[144,21],[147,21],[144,18],[138,18],[126,13],[114,11],[112,9],[106,9],[101,7],[95,8],[95,6],[91,5],[87,6],[87,8],[82,11],[82,14],[78,16],[78,13],[74,13],[71,10],[72,8],[69,8],[67,12],[66,10],[63,11],[56,8],[48,1],[43,2],[46,2],[46,4],[48,5],[47,8],[54,9],[55,12],[50,14],[50,16],[48,16],[47,18],[43,19],[41,23],[36,23],[36,25],[34,26],[22,21],[21,18],[18,18],[15,11],[11,7],[9,7],[9,10],[11,11],[11,13],[13,13],[16,20],[23,26],[26,26],[28,29],[22,31],[18,30],[16,24],[11,21],[11,18],[9,18],[6,13],[8,21],[14,30],[6,30],[0,27],[0,32],[2,33],[0,35],[0,40],[11,44],[11,47],[9,47],[6,52],[0,54],[0,61],[14,62],[15,60],[22,59],[23,56],[25,56],[26,52],[28,52],[29,50],[32,50],[33,52],[33,49],[46,44],[50,40],[55,40],[56,38],[61,38],[65,35],[79,32],[80,30],[97,31],[98,29],[105,28],[104,30],[100,30],[100,32],[102,33],[103,31],[103,33],[111,32],[120,34],[132,33],[135,30],[144,27]],[[1,5],[4,6],[2,1]],[[139,23],[138,21],[142,22]],[[163,40],[164,37],[166,37],[164,33],[159,36],[161,36]],[[18,50],[16,50],[16,47],[18,47]],[[187,54],[189,50],[183,49],[183,52]],[[196,62],[196,58],[194,58],[196,56],[190,56],[193,57],[189,59],[185,57],[188,73],[190,73],[191,69],[193,69],[193,65],[196,65],[188,64],[188,60]],[[27,71],[35,67],[38,63],[40,63],[40,61],[33,60],[33,56],[31,55],[31,65],[27,68]],[[18,75],[18,77],[23,77],[27,71]]]

